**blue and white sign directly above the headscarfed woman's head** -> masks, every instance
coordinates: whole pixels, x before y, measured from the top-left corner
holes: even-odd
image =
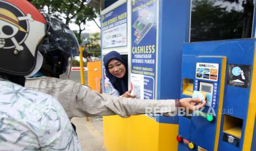
[[[102,19],[102,48],[127,45],[127,2],[108,11]]]

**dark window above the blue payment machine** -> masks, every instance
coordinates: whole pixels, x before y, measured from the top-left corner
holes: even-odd
[[[251,38],[254,0],[192,0],[190,42]]]

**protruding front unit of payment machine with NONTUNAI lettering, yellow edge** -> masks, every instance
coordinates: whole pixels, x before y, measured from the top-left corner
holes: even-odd
[[[184,79],[193,81],[192,97],[206,101],[206,106],[193,113],[179,112],[179,150],[195,149],[197,144],[206,144],[208,150],[214,150],[216,127],[221,119],[217,115],[222,108],[221,86],[224,86],[226,57],[195,56],[187,59],[182,66],[182,71],[186,71]]]

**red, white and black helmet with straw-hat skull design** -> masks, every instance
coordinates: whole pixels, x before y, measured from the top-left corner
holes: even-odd
[[[45,29],[45,18],[28,1],[0,0],[0,72],[21,76],[37,72],[42,65],[37,48]]]

